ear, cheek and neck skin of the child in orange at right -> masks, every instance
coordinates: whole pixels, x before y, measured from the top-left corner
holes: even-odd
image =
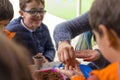
[[[104,25],[99,25],[99,30],[102,32],[100,35],[94,30],[97,44],[102,52],[102,55],[110,62],[119,60],[120,43],[119,38],[115,32],[107,29]],[[116,58],[116,54],[118,58]]]

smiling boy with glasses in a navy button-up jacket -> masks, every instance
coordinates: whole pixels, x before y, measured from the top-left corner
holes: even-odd
[[[25,46],[32,55],[41,53],[45,61],[53,61],[55,49],[49,30],[42,23],[46,13],[44,0],[20,0],[20,17],[11,21],[6,29],[15,32],[14,40]]]

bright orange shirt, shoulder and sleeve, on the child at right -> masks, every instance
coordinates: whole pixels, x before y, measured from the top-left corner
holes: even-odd
[[[119,62],[110,64],[104,69],[93,70],[87,80],[120,80]],[[74,76],[71,80],[86,80],[83,76]]]

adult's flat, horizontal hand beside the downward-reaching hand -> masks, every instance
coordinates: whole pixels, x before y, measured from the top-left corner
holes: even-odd
[[[84,61],[96,61],[101,55],[97,50],[78,50],[75,56],[77,58],[83,58]]]

